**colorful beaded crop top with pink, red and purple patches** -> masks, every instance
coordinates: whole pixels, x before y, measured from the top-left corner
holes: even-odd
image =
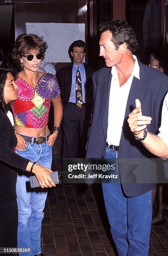
[[[18,99],[12,102],[16,125],[26,128],[42,128],[48,123],[51,99],[60,95],[52,74],[43,74],[33,88],[28,82],[17,78]]]

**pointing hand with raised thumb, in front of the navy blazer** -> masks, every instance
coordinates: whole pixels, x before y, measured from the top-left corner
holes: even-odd
[[[139,99],[135,100],[136,108],[129,114],[127,122],[130,126],[130,130],[134,133],[135,137],[143,137],[143,130],[151,123],[152,118],[150,116],[142,115],[141,103]]]

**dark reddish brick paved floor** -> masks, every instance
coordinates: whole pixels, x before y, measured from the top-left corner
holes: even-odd
[[[58,184],[49,189],[42,225],[46,256],[117,256],[100,184]],[[168,255],[166,222],[151,228],[149,255]]]

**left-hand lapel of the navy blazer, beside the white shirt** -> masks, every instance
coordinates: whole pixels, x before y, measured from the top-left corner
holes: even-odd
[[[107,138],[108,112],[109,112],[109,92],[111,86],[112,74],[111,68],[107,68],[101,80],[101,115],[104,138]]]

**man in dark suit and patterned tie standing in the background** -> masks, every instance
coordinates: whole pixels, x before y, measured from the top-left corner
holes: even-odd
[[[85,157],[85,145],[93,105],[92,74],[94,69],[83,63],[86,43],[74,41],[70,46],[73,63],[56,73],[63,105],[63,158]],[[76,72],[81,76],[82,103],[76,101]]]

